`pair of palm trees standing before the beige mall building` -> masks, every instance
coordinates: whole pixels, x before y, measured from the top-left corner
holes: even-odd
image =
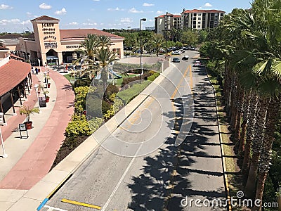
[[[74,61],[74,65],[83,62],[84,71],[81,75],[94,72],[95,75],[100,72],[103,80],[103,89],[107,87],[107,65],[116,60],[116,52],[110,50],[110,37],[97,36],[96,34],[87,34],[84,41],[81,42],[81,49],[77,50],[80,57]]]

